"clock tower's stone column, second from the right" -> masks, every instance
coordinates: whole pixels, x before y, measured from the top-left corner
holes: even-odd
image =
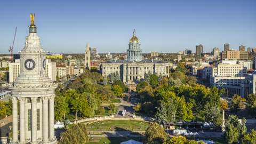
[[[48,97],[43,97],[43,141],[49,141]]]

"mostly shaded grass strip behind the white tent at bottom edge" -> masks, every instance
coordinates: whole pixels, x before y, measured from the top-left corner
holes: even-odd
[[[92,140],[95,140],[95,142],[86,142],[88,144],[95,144],[95,143],[108,143],[108,144],[116,144],[116,143],[121,143],[124,141],[128,140],[135,140],[135,141],[140,141],[143,142],[143,138],[130,138],[130,137],[94,137]],[[98,140],[98,141],[97,141]]]

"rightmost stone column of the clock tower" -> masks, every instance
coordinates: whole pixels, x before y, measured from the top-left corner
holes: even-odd
[[[54,140],[54,98],[55,95],[49,97],[49,136],[50,140]]]

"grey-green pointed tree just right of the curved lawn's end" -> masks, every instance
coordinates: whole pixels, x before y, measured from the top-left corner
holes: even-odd
[[[159,124],[165,124],[167,122],[167,107],[164,101],[161,101],[160,107],[157,108],[155,118]]]

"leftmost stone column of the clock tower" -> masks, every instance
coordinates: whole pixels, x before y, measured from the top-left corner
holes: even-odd
[[[12,142],[18,142],[18,106],[17,98],[12,97]]]

